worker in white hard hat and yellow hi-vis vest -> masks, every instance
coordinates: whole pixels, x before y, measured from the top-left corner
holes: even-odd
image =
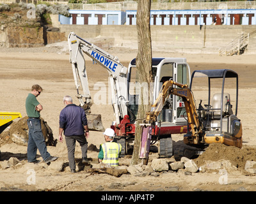
[[[98,161],[99,163],[102,162],[110,166],[118,166],[122,146],[120,143],[113,142],[115,131],[111,128],[107,128],[103,135],[106,143],[100,145]]]

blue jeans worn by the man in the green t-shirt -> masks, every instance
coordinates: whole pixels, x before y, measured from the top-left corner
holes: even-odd
[[[45,159],[51,155],[47,152],[44,135],[41,129],[40,119],[29,118],[28,122],[28,162],[36,161],[36,152],[39,150],[41,156]]]

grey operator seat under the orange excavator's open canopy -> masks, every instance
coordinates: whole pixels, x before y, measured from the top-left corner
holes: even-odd
[[[232,115],[232,105],[230,105],[230,95],[228,93],[223,94],[223,105],[222,105],[222,113],[221,113],[221,93],[214,94],[211,101],[212,109],[212,118],[220,119],[221,115],[224,117],[225,115]]]

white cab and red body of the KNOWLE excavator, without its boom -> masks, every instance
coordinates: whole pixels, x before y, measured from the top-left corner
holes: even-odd
[[[151,92],[144,93],[143,97],[150,98],[151,105],[156,101],[159,91],[162,89],[164,82],[173,80],[180,84],[190,83],[190,68],[186,63],[186,58],[175,57],[161,57],[152,58],[152,75],[154,82],[150,84]],[[133,59],[128,67],[128,108],[133,113],[129,115],[131,119],[130,124],[134,124],[136,114],[138,112],[138,101],[140,93],[140,85],[138,84],[138,76],[136,75],[136,59]],[[147,84],[145,84],[147,85]],[[147,89],[146,89],[147,90]],[[188,128],[186,108],[179,96],[170,95],[162,104],[163,108],[155,124],[154,131],[150,133],[151,144],[159,140],[159,155],[171,157],[173,155],[172,149],[172,134],[186,133]],[[129,124],[127,124],[129,126]],[[127,131],[127,135],[132,132]],[[129,141],[129,138],[127,138]],[[148,144],[145,144],[148,145]]]

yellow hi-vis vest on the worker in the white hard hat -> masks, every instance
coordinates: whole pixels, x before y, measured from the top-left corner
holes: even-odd
[[[101,144],[104,158],[102,163],[109,164],[110,166],[118,166],[119,155],[122,146],[116,142],[106,142]]]

